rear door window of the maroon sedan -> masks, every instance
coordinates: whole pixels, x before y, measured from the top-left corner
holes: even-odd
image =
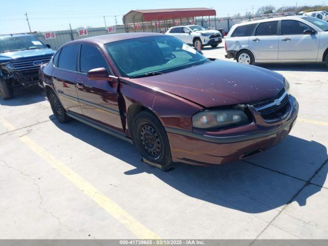
[[[58,68],[77,71],[77,54],[79,45],[64,46],[59,55]]]

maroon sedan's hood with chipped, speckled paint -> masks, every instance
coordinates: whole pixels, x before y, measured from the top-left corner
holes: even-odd
[[[222,60],[131,81],[169,92],[206,108],[268,99],[284,87],[281,74]]]

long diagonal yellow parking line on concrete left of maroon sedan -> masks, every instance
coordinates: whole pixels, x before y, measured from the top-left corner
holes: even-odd
[[[0,118],[0,123],[8,128],[9,131],[14,131],[16,128],[11,125],[7,120]],[[45,159],[51,164],[60,174],[70,180],[74,186],[76,186],[80,191],[87,194],[91,199],[93,199],[100,207],[105,209],[110,215],[122,223],[128,230],[135,234],[140,239],[159,239],[159,237],[145,226],[143,226],[139,221],[133,218],[124,209],[118,206],[117,203],[113,202],[94,186],[92,186],[87,180],[79,176],[72,169],[67,167],[63,162],[56,159],[52,154],[46,151],[44,148],[36,144],[28,136],[19,136],[19,139],[28,146],[33,152]]]

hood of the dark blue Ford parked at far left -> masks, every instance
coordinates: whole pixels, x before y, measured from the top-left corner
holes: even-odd
[[[26,58],[38,58],[53,55],[52,49],[35,49],[35,50],[19,50],[0,53],[0,63],[6,63],[11,60],[21,60]]]

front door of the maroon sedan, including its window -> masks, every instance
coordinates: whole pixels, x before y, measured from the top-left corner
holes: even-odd
[[[87,72],[94,68],[109,66],[101,51],[93,45],[82,44],[80,73],[76,75],[77,96],[85,117],[99,124],[123,131],[118,100],[117,81],[90,80]]]

